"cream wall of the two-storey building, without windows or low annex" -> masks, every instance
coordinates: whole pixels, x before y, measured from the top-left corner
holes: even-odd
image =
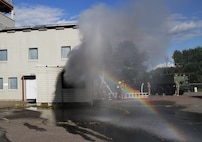
[[[22,100],[22,76],[36,75],[36,66],[64,66],[61,47],[79,45],[80,36],[75,28],[22,29],[0,32],[0,50],[7,49],[7,61],[0,61],[0,100]],[[38,48],[38,59],[29,60],[29,48]],[[17,77],[17,89],[8,89],[8,78]],[[37,78],[37,76],[36,76]]]

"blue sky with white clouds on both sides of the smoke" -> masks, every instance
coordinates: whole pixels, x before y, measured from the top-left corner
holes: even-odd
[[[132,0],[13,0],[14,18],[17,27],[76,23],[83,12],[95,5],[102,3],[108,7],[119,9],[122,5],[127,5],[128,1]],[[151,0],[143,1],[147,5],[147,2]],[[155,2],[163,2],[164,7],[162,8],[168,11],[168,15],[165,18],[165,30],[170,41],[166,49],[166,59],[168,59],[166,61],[168,61],[167,65],[172,66],[172,54],[175,50],[182,51],[202,46],[202,1],[152,1],[154,5],[156,4]],[[150,10],[152,12],[152,9]],[[162,65],[165,65],[165,61],[159,64],[159,66]]]

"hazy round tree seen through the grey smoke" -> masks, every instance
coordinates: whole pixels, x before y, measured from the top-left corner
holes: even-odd
[[[140,52],[134,43],[122,42],[112,55],[111,71],[117,78],[132,85],[137,78],[146,72],[147,55]],[[141,77],[140,77],[141,76]]]

